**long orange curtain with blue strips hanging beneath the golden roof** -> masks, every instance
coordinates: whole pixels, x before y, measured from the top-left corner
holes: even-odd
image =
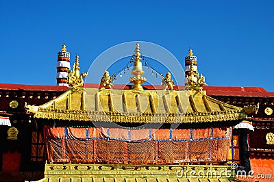
[[[177,164],[229,160],[231,127],[119,129],[45,126],[48,161]]]

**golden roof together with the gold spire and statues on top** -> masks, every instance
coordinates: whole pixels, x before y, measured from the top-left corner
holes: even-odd
[[[147,79],[141,77],[144,71],[140,62],[142,55],[138,43],[132,56],[134,66],[131,74],[134,77],[130,77],[129,81],[134,83],[134,86],[129,86],[130,89],[112,88],[113,78],[108,71],[105,71],[101,79],[101,86],[84,88],[82,75],[86,77],[87,73],[80,75],[79,57],[76,56],[73,70],[68,76],[71,86],[69,90],[44,105],[27,105],[27,113],[32,114],[34,118],[53,120],[183,125],[227,122],[227,125],[233,126],[247,118],[249,107],[236,107],[206,95],[206,91],[203,90],[203,86],[206,85],[205,77],[199,76],[197,57],[193,55],[192,49],[188,55],[185,59],[186,90],[183,87],[181,89],[184,90],[180,87],[175,90],[170,73],[166,73],[166,77],[161,75],[164,90],[144,90],[141,83]]]

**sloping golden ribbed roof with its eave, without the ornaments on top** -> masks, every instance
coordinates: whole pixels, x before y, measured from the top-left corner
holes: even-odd
[[[44,105],[27,105],[26,112],[34,118],[86,122],[240,122],[247,117],[242,107],[212,99],[206,91],[82,89],[69,89]]]

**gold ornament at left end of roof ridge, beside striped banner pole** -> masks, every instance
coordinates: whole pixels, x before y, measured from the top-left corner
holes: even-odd
[[[81,73],[80,75],[80,67],[79,67],[79,56],[76,55],[75,63],[73,64],[73,70],[69,72],[68,79],[69,79],[69,86],[77,89],[82,88],[84,85],[83,78],[88,76],[88,73]]]

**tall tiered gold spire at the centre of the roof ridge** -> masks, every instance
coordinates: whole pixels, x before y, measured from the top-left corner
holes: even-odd
[[[140,60],[142,59],[140,56],[140,48],[137,42],[134,53],[134,66],[132,68],[132,71],[130,72],[132,75],[134,75],[134,77],[129,78],[129,81],[131,83],[134,83],[134,86],[132,87],[133,90],[143,90],[141,83],[147,81],[145,77],[141,77],[141,75],[145,72],[142,70],[142,62],[140,62]]]

